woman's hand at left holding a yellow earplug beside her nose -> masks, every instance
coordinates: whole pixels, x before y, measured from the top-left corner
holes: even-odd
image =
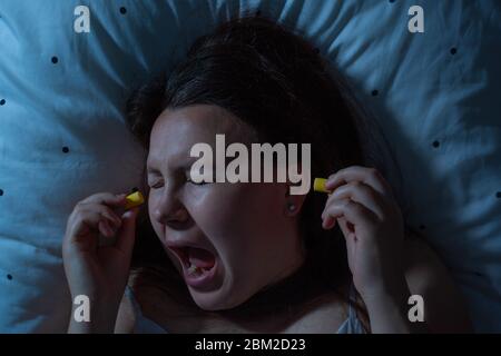
[[[125,194],[95,194],[79,201],[68,218],[62,243],[65,273],[71,298],[85,295],[90,300],[90,332],[112,332],[127,285],[139,208],[118,216],[114,209],[125,204]],[[100,246],[99,233],[115,243]]]

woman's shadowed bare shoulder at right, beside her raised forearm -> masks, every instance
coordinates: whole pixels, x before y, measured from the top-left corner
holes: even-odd
[[[471,332],[465,301],[439,255],[418,233],[407,234],[404,246],[409,289],[423,297],[424,318],[430,330]]]

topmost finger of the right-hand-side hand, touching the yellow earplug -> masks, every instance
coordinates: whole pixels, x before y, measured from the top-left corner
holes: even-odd
[[[374,190],[379,191],[382,196],[393,198],[392,188],[383,176],[375,168],[361,166],[351,166],[340,169],[328,177],[325,182],[325,188],[333,191],[337,187],[354,180],[363,181]]]

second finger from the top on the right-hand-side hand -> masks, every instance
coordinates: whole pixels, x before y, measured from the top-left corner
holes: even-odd
[[[334,192],[330,195],[326,205],[332,200],[341,199],[352,199],[372,210],[380,219],[383,219],[384,217],[385,198],[371,186],[360,180],[350,181],[348,184],[336,188]]]

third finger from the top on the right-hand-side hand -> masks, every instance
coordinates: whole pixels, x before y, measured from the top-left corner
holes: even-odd
[[[374,212],[351,199],[333,200],[325,207],[324,214],[335,218],[345,217],[355,229],[377,224],[377,216]]]

